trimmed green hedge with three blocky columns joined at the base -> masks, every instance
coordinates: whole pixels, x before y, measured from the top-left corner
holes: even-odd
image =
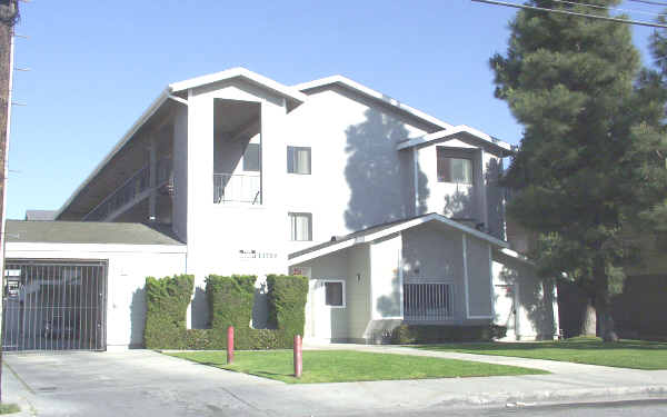
[[[206,279],[210,329],[186,329],[186,310],[192,297],[192,276],[146,279],[147,315],[143,339],[149,349],[225,349],[227,328],[235,327],[237,349],[290,348],[303,334],[308,278],[267,277],[269,321],[276,329],[252,329],[256,276],[210,275]]]

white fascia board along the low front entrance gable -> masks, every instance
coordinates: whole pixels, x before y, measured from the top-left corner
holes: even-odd
[[[427,216],[424,216],[424,217],[419,217],[419,218],[416,218],[416,219],[412,219],[412,220],[408,220],[408,221],[401,222],[401,224],[396,225],[394,227],[388,227],[386,229],[378,230],[376,232],[369,232],[368,235],[357,236],[355,238],[350,238],[350,239],[344,240],[344,241],[341,241],[339,244],[334,244],[334,245],[327,246],[325,248],[321,248],[321,249],[318,249],[318,250],[313,250],[312,252],[303,254],[303,255],[298,256],[296,258],[288,259],[288,264],[290,266],[291,265],[296,265],[296,264],[301,264],[301,262],[305,262],[305,261],[308,261],[308,260],[311,260],[311,259],[315,259],[315,258],[319,258],[319,257],[325,256],[325,255],[329,255],[329,254],[336,252],[336,251],[345,249],[345,248],[349,248],[349,247],[355,246],[357,244],[371,242],[374,240],[381,239],[381,238],[384,238],[386,236],[390,236],[390,235],[394,235],[394,234],[398,234],[398,232],[400,232],[402,230],[409,229],[409,228],[415,227],[415,226],[422,225],[422,224],[425,224],[427,221],[431,221],[431,220],[440,221],[440,222],[442,222],[442,224],[445,224],[445,225],[447,225],[447,226],[449,226],[449,227],[451,227],[454,229],[458,229],[458,230],[460,230],[460,231],[462,231],[462,232],[465,232],[467,235],[475,236],[476,238],[482,239],[485,241],[488,241],[491,245],[495,245],[495,246],[498,246],[498,247],[501,247],[501,248],[508,248],[508,246],[509,246],[506,241],[497,239],[497,238],[495,238],[492,236],[489,236],[487,234],[484,234],[484,232],[481,232],[479,230],[472,229],[472,228],[470,228],[468,226],[461,225],[461,224],[459,224],[457,221],[450,220],[450,219],[446,218],[445,216],[440,216],[438,214],[430,214],[430,215],[427,215]]]

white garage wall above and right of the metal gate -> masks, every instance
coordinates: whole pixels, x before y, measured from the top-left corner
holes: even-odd
[[[7,244],[13,259],[107,260],[107,349],[143,345],[147,276],[186,271],[185,246]]]

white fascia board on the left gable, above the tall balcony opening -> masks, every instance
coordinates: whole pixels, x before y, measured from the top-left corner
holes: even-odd
[[[251,81],[252,83],[269,89],[273,92],[277,92],[280,96],[287,97],[299,103],[305,102],[308,98],[308,96],[292,87],[281,85],[280,82],[273,81],[270,78],[260,76],[259,73],[252,72],[242,67],[231,68],[225,71],[209,73],[207,76],[190,78],[189,80],[175,82],[169,85],[169,88],[172,92],[178,92],[210,85],[213,82],[229,80],[232,78],[245,78]]]

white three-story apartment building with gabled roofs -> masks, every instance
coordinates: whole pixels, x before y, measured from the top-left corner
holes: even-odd
[[[261,327],[263,277],[293,272],[311,281],[307,338],[377,341],[400,322],[496,322],[510,338],[550,338],[555,289],[505,240],[498,179],[510,155],[345,77],[285,86],[235,68],[169,85],[56,215],[90,222],[89,235],[100,222],[148,225],[171,239],[176,261],[116,267],[82,246],[103,234],[34,231],[8,239],[7,258],[107,260],[107,347],[140,345],[127,306],[147,274],[182,272],[196,276],[192,328],[208,325],[207,275],[258,275],[251,325]],[[163,252],[155,236],[138,240]]]

